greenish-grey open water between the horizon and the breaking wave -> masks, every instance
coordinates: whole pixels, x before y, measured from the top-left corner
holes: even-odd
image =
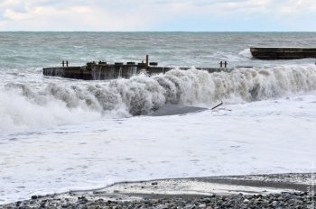
[[[250,59],[246,49],[252,46],[315,47],[316,32],[0,32],[0,68],[56,66],[62,59],[73,65],[140,61],[146,54],[171,66],[279,63]]]

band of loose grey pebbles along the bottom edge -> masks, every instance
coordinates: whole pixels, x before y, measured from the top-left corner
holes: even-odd
[[[307,193],[271,195],[207,195],[200,197],[144,198],[134,201],[89,201],[84,195],[77,201],[33,196],[32,200],[5,205],[4,208],[315,208]]]

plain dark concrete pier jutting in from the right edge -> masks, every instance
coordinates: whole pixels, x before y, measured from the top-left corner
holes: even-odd
[[[305,59],[316,58],[316,48],[250,48],[256,59]]]

